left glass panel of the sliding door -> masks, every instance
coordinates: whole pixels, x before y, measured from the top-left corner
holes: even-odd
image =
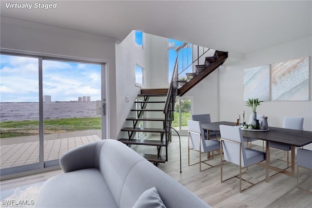
[[[38,58],[0,55],[1,175],[39,163]]]

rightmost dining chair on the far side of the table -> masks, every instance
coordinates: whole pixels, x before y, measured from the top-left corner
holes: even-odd
[[[294,129],[294,130],[303,130],[303,117],[284,117],[283,128],[285,129]],[[290,145],[280,144],[276,142],[269,142],[269,147],[287,151],[287,168],[289,168],[289,151],[291,150]]]

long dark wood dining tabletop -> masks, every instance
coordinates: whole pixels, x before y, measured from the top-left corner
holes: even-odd
[[[203,129],[219,132],[220,125],[235,126],[235,124],[236,123],[234,122],[220,121],[213,123],[202,123],[201,126]],[[312,143],[312,132],[310,131],[292,130],[277,127],[269,127],[269,129],[270,130],[267,132],[242,130],[242,135],[244,137],[261,139],[270,142],[277,142],[295,147],[303,147],[305,145]]]

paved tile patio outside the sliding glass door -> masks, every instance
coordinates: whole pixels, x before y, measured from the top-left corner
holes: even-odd
[[[58,159],[64,152],[100,140],[98,135],[84,135],[44,141],[44,160]],[[39,141],[0,145],[0,169],[39,162]],[[6,142],[7,143],[7,142]]]

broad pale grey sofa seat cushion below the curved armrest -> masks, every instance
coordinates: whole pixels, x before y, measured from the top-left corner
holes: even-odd
[[[38,208],[117,208],[98,169],[63,173],[47,180],[42,187]]]

